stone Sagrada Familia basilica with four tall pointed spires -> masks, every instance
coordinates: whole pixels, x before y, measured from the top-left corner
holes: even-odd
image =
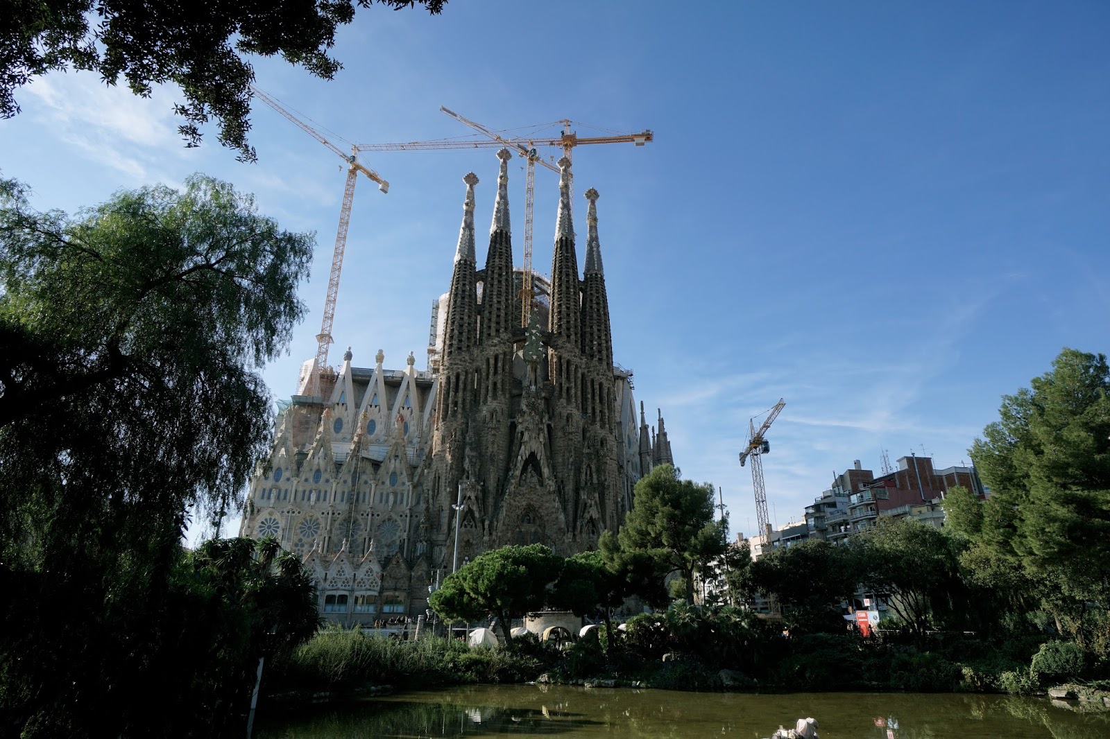
[[[324,616],[345,625],[424,614],[428,585],[476,555],[541,543],[571,555],[620,526],[633,487],[673,464],[662,414],[648,426],[632,373],[613,361],[608,298],[588,190],[579,276],[569,166],[561,160],[551,281],[514,270],[508,150],[485,265],[475,255],[474,173],[451,290],[433,305],[428,370],[312,362],[276,421],[241,534],[276,537],[313,571]],[[527,295],[527,292],[524,292]],[[456,520],[457,517],[457,520]]]

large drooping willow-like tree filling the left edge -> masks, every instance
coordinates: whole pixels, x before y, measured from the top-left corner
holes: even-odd
[[[259,370],[303,315],[313,245],[199,175],[75,216],[0,183],[0,711],[19,731],[139,731],[162,701],[182,530],[236,506],[266,448]]]

